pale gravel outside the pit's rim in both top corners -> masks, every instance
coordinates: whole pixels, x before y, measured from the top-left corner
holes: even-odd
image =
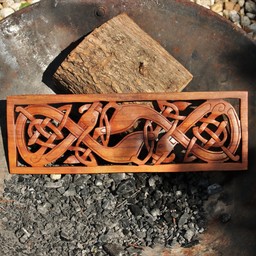
[[[0,20],[40,0],[0,0]],[[190,0],[229,19],[256,40],[256,0]]]

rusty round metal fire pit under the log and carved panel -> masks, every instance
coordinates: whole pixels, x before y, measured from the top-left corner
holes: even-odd
[[[3,170],[1,172],[2,183],[4,178],[10,178],[6,161],[6,97],[14,94],[57,92],[51,77],[61,61],[78,44],[79,41],[77,40],[122,12],[128,13],[141,28],[159,41],[194,75],[185,91],[216,91],[216,93],[221,90],[249,91],[248,171],[208,173],[207,177],[200,173],[195,176],[191,176],[191,174],[170,174],[167,176],[166,174],[151,174],[149,176],[119,174],[112,177],[101,175],[72,177],[66,175],[58,181],[52,181],[48,176],[13,176],[9,181],[6,181],[6,190],[2,194],[1,226],[5,229],[1,229],[0,238],[6,244],[8,244],[8,239],[6,239],[8,235],[13,237],[13,240],[9,239],[9,243],[16,243],[15,239],[17,239],[17,243],[20,244],[16,250],[18,255],[22,250],[25,250],[24,248],[26,248],[26,253],[35,253],[32,247],[29,247],[29,242],[35,243],[36,238],[42,242],[40,240],[42,237],[45,239],[44,241],[50,241],[51,237],[57,237],[57,240],[54,240],[57,244],[56,247],[51,245],[49,248],[52,253],[60,253],[57,248],[62,245],[63,255],[68,255],[68,251],[72,251],[72,255],[76,255],[75,251],[77,251],[77,255],[82,255],[82,253],[84,255],[115,255],[111,254],[111,249],[115,251],[116,248],[113,249],[113,244],[115,241],[120,241],[115,236],[115,231],[117,234],[122,231],[123,236],[129,237],[129,239],[133,237],[134,239],[130,240],[123,238],[123,241],[127,240],[126,245],[129,244],[130,248],[136,249],[136,246],[168,245],[166,242],[168,236],[164,232],[169,232],[171,227],[176,225],[177,227],[180,226],[180,229],[176,229],[176,231],[174,229],[173,237],[171,237],[171,233],[169,234],[170,240],[173,242],[173,238],[177,237],[179,245],[190,247],[177,252],[177,255],[184,254],[184,250],[192,255],[200,255],[200,252],[202,255],[207,253],[209,255],[237,255],[242,252],[243,255],[253,255],[256,251],[254,239],[256,234],[254,178],[256,174],[253,161],[253,156],[256,153],[256,139],[253,136],[256,110],[254,100],[256,45],[242,30],[222,17],[187,1],[141,0],[136,1],[136,3],[117,0],[72,1],[72,3],[42,1],[2,20],[0,23],[2,31],[0,38],[0,61],[2,63],[0,70],[0,145],[2,145],[0,163]],[[35,184],[37,185],[35,186]],[[113,187],[113,184],[116,187]],[[139,186],[145,187],[144,190],[138,190]],[[90,189],[94,197],[88,196]],[[3,191],[3,184],[1,190]],[[144,191],[144,194],[141,191]],[[190,198],[189,200],[192,201],[186,204],[187,195],[193,194],[193,191],[194,201]],[[16,194],[14,195],[12,192]],[[87,201],[77,200],[77,194],[81,198],[86,198]],[[111,200],[105,200],[103,194]],[[148,196],[144,198],[143,196],[146,194]],[[31,205],[27,204],[26,206],[26,197],[30,199]],[[155,206],[158,200],[162,200],[162,204],[167,205],[163,200],[166,201],[168,197],[174,198],[176,208],[179,200],[178,204],[181,204],[179,209],[182,209],[182,212],[171,206],[168,209],[162,209],[161,205]],[[60,200],[59,204],[56,200]],[[97,200],[101,204],[94,205]],[[154,202],[151,202],[152,200]],[[37,205],[33,207],[33,204]],[[152,207],[148,208],[149,211],[143,208],[144,204],[152,204]],[[203,213],[203,204],[205,214]],[[82,207],[83,205],[98,208],[96,210],[91,208],[92,215],[88,217],[88,215],[83,214],[87,214]],[[105,211],[102,211],[103,205]],[[124,205],[126,208],[123,207]],[[193,208],[193,205],[196,209]],[[21,216],[19,212],[22,214],[26,207],[30,207],[29,209],[33,214],[28,216],[27,221],[15,223],[14,219],[19,219]],[[65,211],[65,207],[71,207],[71,209]],[[189,209],[186,210],[186,207]],[[14,215],[8,217],[7,212],[12,209]],[[48,214],[53,209],[56,213],[54,221],[46,221],[44,218],[52,216]],[[121,214],[111,215],[110,212],[113,209],[122,209]],[[123,213],[125,210],[128,212],[127,216]],[[106,229],[111,231],[109,234],[107,230],[102,229],[103,224],[100,225],[100,217],[93,215],[100,211],[103,215],[105,214],[102,220],[107,219],[106,216],[110,214],[109,223],[105,223]],[[70,219],[65,220],[63,217],[65,212]],[[133,217],[129,217],[129,214]],[[62,217],[58,219],[58,215],[62,215]],[[147,225],[143,226],[144,222],[142,221],[141,226],[138,226],[139,231],[137,230],[136,233],[134,230],[138,227],[134,226],[134,222],[129,221],[131,218],[135,218],[134,216],[141,219],[141,215],[144,216],[143,220],[147,216]],[[206,216],[204,217],[204,215]],[[71,221],[72,216],[74,217]],[[78,216],[80,219],[77,219]],[[149,216],[153,216],[153,218]],[[197,218],[197,216],[196,221],[191,221],[192,217]],[[97,222],[92,224],[90,218],[98,219],[98,225]],[[120,222],[123,223],[122,229],[118,225],[110,227],[114,225],[114,218],[120,218]],[[41,220],[41,224],[38,223],[38,228],[30,225],[31,223],[35,224],[37,220]],[[171,223],[168,224],[167,220],[171,220]],[[207,225],[202,223],[206,220]],[[58,221],[63,222],[63,225],[58,226],[56,224]],[[151,231],[148,228],[151,225],[149,224],[150,221],[152,224]],[[175,223],[176,221],[177,223]],[[74,227],[74,223],[79,223],[80,231],[77,226]],[[87,231],[83,227],[86,223],[89,223]],[[166,223],[167,227],[164,228]],[[10,229],[7,230],[8,225]],[[154,227],[154,225],[158,227]],[[187,229],[184,225],[187,225]],[[197,230],[198,239],[193,239],[195,234],[188,231],[193,229],[192,225],[198,226],[198,229],[194,229]],[[163,230],[162,235],[159,227]],[[203,229],[207,230],[204,231]],[[16,233],[11,234],[10,230]],[[80,236],[74,237],[74,234],[79,234],[79,232],[80,236],[84,233],[87,234],[87,237],[83,238],[84,240],[80,239]],[[92,236],[97,234],[97,237],[90,238],[88,235],[90,232]],[[130,236],[129,232],[134,236]],[[112,245],[109,245],[110,240],[106,234],[109,236],[112,234]],[[158,237],[153,237],[156,234]],[[140,237],[140,240],[134,244],[136,237]],[[72,244],[72,241],[76,241],[76,244]],[[169,246],[174,247],[174,244],[175,242],[170,243]],[[98,251],[93,251],[96,250],[97,245]],[[91,249],[86,251],[89,247]],[[45,247],[42,246],[41,248]],[[99,248],[103,248],[102,252]],[[7,249],[4,247],[2,249],[3,255],[6,255]],[[117,251],[118,249],[116,249]],[[9,251],[9,254],[13,254],[13,252]],[[42,250],[37,252],[38,255],[47,255]],[[130,255],[132,255],[131,250]]]

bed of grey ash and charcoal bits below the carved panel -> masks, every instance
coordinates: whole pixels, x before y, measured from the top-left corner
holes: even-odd
[[[139,255],[205,230],[204,174],[13,175],[0,209],[1,255]],[[226,218],[225,218],[226,219]],[[136,245],[136,246],[135,246]]]

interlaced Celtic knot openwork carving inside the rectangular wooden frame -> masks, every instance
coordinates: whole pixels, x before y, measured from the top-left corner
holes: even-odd
[[[241,164],[244,158],[241,111],[227,100],[84,97],[13,104],[16,166],[132,168]]]

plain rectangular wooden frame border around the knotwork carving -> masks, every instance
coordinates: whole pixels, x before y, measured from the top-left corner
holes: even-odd
[[[219,97],[219,95],[221,97]],[[30,104],[55,104],[60,102],[94,101],[155,101],[155,100],[240,100],[240,122],[242,129],[242,159],[238,163],[181,163],[161,165],[113,165],[113,166],[17,166],[17,147],[15,138],[15,106]],[[233,171],[248,168],[248,92],[181,92],[181,93],[138,93],[138,94],[91,94],[91,95],[21,95],[7,97],[7,133],[10,173],[16,174],[78,174],[78,173],[115,173],[115,172],[189,172],[189,171]]]

